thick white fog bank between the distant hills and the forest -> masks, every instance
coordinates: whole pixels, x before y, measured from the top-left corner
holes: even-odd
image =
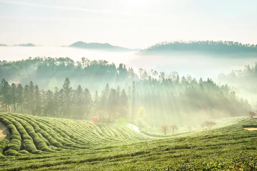
[[[0,60],[21,60],[29,56],[32,58],[36,56],[69,57],[75,62],[81,60],[82,57],[89,60],[101,59],[107,60],[109,63],[114,62],[116,67],[120,63],[126,64],[127,68],[133,67],[135,73],[138,73],[139,68],[147,71],[151,69],[158,72],[163,71],[167,74],[176,71],[179,76],[190,74],[197,80],[202,77],[204,80],[212,78],[214,81],[221,72],[230,73],[231,70],[240,69],[256,62],[256,58],[247,56],[227,58],[226,56],[211,57],[208,54],[139,55],[137,52],[110,52],[70,47],[0,47]]]

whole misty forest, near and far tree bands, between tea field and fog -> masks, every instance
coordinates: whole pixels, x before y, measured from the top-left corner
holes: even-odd
[[[164,124],[242,116],[252,109],[227,84],[219,86],[212,79],[196,80],[190,75],[180,77],[175,71],[134,71],[125,64],[116,67],[87,58],[74,62],[70,58],[30,57],[0,64],[5,112],[10,104],[12,112],[19,108],[19,112],[22,109],[22,113],[33,115],[90,119],[105,107],[113,119],[136,119],[138,108],[144,107],[148,123]],[[53,80],[55,84],[49,84]]]

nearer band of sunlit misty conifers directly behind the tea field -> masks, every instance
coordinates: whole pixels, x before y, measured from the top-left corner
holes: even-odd
[[[19,108],[21,113],[71,119],[90,119],[104,107],[111,114],[110,121],[111,117],[134,120],[137,110],[144,107],[145,121],[152,125],[170,120],[185,124],[188,119],[198,117],[242,116],[252,109],[248,101],[238,99],[228,85],[217,86],[209,78],[197,82],[178,75],[174,80],[163,78],[162,81],[149,76],[133,81],[126,90],[106,84],[101,92],[90,92],[80,85],[73,89],[69,78],[54,91],[39,89],[32,81],[23,86],[20,83],[10,85],[3,79],[0,98],[4,112],[9,112],[12,106],[12,112]]]

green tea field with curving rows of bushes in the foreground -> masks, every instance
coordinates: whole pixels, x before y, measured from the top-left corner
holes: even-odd
[[[0,113],[12,135],[0,141],[0,170],[256,170],[256,118],[150,139],[127,126]],[[179,129],[181,132],[182,128]],[[148,134],[161,134],[146,128]],[[151,132],[150,132],[151,131]],[[186,130],[185,132],[186,133]]]

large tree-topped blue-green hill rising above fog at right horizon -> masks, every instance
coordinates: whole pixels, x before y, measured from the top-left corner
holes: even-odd
[[[174,41],[161,42],[148,47],[142,52],[207,52],[215,54],[238,54],[238,53],[252,53],[256,56],[257,44],[242,44],[233,41]]]

